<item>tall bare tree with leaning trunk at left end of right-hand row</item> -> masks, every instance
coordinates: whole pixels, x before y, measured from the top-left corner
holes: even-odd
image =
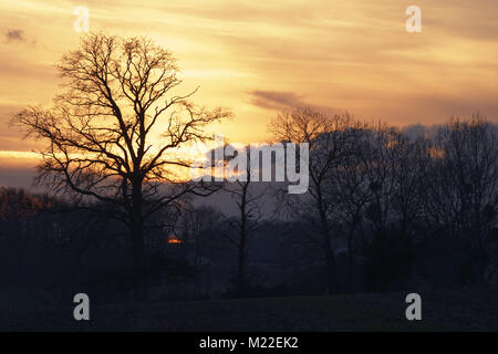
[[[356,123],[347,114],[333,115],[312,107],[298,107],[282,113],[268,129],[277,140],[308,143],[310,149],[310,186],[304,195],[289,196],[294,212],[311,217],[318,223],[325,259],[328,285],[336,282],[334,246],[331,239],[330,215],[334,208],[330,186],[341,162],[351,154]]]

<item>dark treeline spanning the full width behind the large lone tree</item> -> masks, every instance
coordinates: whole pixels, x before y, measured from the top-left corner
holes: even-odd
[[[167,222],[145,237],[152,300],[497,284],[496,124],[400,129],[304,107],[269,129],[309,144],[308,192],[227,183],[228,215],[190,199],[158,216]],[[0,190],[3,288],[125,300],[132,259],[127,229],[105,212]]]

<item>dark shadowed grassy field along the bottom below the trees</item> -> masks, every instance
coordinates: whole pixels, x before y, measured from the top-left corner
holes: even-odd
[[[207,300],[73,308],[3,308],[2,331],[498,331],[491,291],[422,293],[422,321],[405,319],[406,293]]]

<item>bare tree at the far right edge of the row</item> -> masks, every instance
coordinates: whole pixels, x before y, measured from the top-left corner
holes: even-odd
[[[498,206],[498,133],[476,115],[453,119],[433,138],[427,211],[434,225],[474,253],[486,282],[487,242]]]

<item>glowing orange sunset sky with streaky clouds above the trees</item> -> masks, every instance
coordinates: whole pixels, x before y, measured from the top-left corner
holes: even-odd
[[[269,140],[269,121],[295,105],[400,126],[498,117],[496,0],[0,0],[0,185],[34,174],[43,143],[8,122],[61,92],[54,64],[79,44],[77,6],[91,31],[169,49],[196,103],[234,112],[215,127],[230,142]],[[421,33],[405,29],[409,6]]]

